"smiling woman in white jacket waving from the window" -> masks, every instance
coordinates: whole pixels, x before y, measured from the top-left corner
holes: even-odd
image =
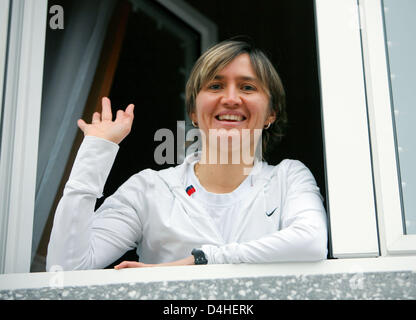
[[[310,171],[299,161],[271,166],[254,157],[285,120],[284,90],[267,57],[243,41],[212,47],[192,70],[186,107],[206,137],[201,152],[133,175],[96,212],[134,106],[112,121],[103,98],[91,124],[78,120],[85,138],[55,214],[47,270],[103,268],[136,247],[140,262],[116,269],[326,258],[326,215]]]

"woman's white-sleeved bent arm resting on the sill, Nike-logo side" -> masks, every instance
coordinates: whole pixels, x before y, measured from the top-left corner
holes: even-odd
[[[300,161],[285,163],[286,198],[281,230],[223,246],[203,245],[208,263],[318,261],[327,257],[327,219],[316,181]]]

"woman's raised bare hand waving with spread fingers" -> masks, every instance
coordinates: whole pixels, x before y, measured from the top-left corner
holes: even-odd
[[[134,105],[129,104],[125,111],[118,110],[113,121],[110,99],[102,98],[102,113],[94,112],[91,124],[79,119],[78,127],[85,136],[103,138],[119,144],[130,133],[133,124]]]

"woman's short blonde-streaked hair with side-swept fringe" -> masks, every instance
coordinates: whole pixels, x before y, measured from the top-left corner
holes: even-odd
[[[186,111],[191,117],[195,112],[195,101],[199,91],[209,81],[213,80],[219,71],[224,69],[240,54],[247,53],[252,67],[263,89],[270,99],[270,111],[275,112],[276,121],[268,130],[263,130],[262,151],[271,151],[281,141],[287,124],[286,95],[282,81],[267,56],[254,45],[242,40],[226,40],[207,50],[195,63],[186,84]]]

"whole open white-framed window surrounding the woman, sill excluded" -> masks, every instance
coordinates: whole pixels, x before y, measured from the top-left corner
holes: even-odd
[[[251,4],[0,0],[1,272],[44,270],[53,214],[82,140],[78,118],[89,121],[101,96],[114,110],[138,107],[105,198],[133,173],[165,167],[153,159],[154,133],[176,132],[177,121],[190,128],[183,94],[193,62],[242,34],[266,51],[287,93],[289,128],[268,160],[298,159],[314,174],[328,213],[329,258],[415,253],[406,165],[413,114],[403,117],[409,110],[396,81],[413,64],[397,64],[393,17],[413,4],[265,1],[247,12]],[[49,25],[53,5],[64,9],[63,29]]]

